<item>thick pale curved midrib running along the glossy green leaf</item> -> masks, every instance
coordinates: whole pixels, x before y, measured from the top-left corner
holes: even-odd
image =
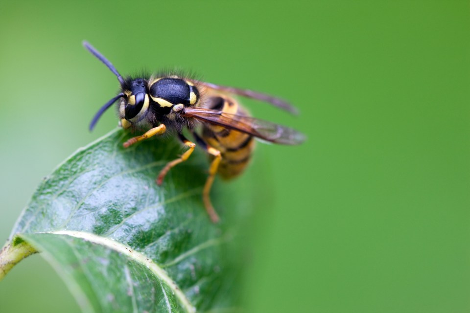
[[[117,241],[114,241],[110,238],[106,237],[100,237],[92,233],[84,232],[84,231],[74,231],[74,230],[59,230],[59,231],[51,231],[51,232],[43,232],[44,234],[54,234],[54,235],[66,235],[66,236],[71,236],[75,238],[80,238],[84,239],[86,241],[89,241],[91,243],[94,243],[96,245],[101,245],[105,246],[107,248],[110,248],[112,250],[117,251],[118,253],[121,253],[128,258],[134,260],[135,262],[138,262],[142,264],[143,266],[147,267],[150,271],[152,271],[161,281],[164,281],[164,283],[175,293],[176,298],[178,301],[181,303],[182,307],[188,312],[188,313],[195,313],[196,308],[194,308],[191,303],[189,302],[189,299],[186,297],[186,295],[181,291],[181,289],[178,287],[178,285],[171,279],[171,277],[168,276],[166,271],[158,266],[156,263],[154,263],[150,258],[145,256],[144,254],[134,251],[127,246],[118,243]]]

